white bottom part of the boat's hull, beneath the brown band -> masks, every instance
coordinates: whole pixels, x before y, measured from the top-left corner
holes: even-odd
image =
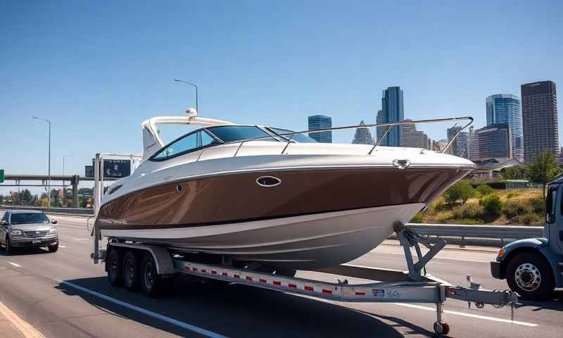
[[[393,222],[405,223],[423,207],[381,206],[203,227],[101,230],[101,234],[274,267],[313,269],[364,255],[393,233]]]

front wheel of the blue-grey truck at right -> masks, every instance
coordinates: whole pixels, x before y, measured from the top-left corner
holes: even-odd
[[[524,299],[546,299],[555,289],[550,265],[537,253],[514,256],[507,265],[510,289]]]

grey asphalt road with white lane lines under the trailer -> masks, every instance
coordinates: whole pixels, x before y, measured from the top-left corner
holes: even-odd
[[[0,302],[45,337],[435,335],[432,304],[321,301],[239,284],[217,290],[189,277],[178,278],[171,294],[163,299],[110,287],[103,266],[94,265],[89,258],[86,218],[56,218],[61,238],[58,252],[37,249],[5,256],[0,250]],[[402,249],[393,243],[352,263],[404,270]],[[505,281],[489,274],[488,261],[494,257],[491,249],[445,249],[430,263],[429,272],[462,285],[470,274],[484,287],[506,289]],[[299,272],[298,277],[320,275]],[[508,308],[469,309],[467,303],[453,300],[445,304],[444,316],[451,327],[450,337],[562,337],[561,299],[563,292],[555,292],[552,301],[523,303],[515,323],[507,321]],[[3,320],[0,315],[0,324]],[[15,334],[13,337],[21,337]]]

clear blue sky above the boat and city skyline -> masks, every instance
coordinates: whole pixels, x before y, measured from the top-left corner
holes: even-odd
[[[0,168],[46,174],[46,124],[32,115],[52,122],[53,174],[64,154],[66,173],[84,175],[96,152],[141,153],[142,120],[195,106],[175,78],[198,84],[200,115],[236,123],[375,123],[382,89],[398,85],[405,118],[472,115],[481,127],[488,95],[520,96],[538,80],[563,91],[562,10],[557,0],[0,0]]]

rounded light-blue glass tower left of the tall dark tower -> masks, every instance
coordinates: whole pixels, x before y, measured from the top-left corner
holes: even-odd
[[[485,102],[487,125],[495,125],[498,123],[506,123],[508,125],[510,133],[512,134],[512,156],[518,161],[523,162],[524,132],[522,130],[522,113],[520,111],[520,100],[518,96],[496,94],[488,96]]]

